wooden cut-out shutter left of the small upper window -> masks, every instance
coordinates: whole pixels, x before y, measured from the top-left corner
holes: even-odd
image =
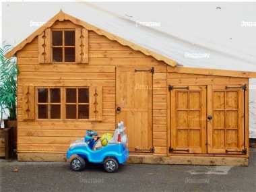
[[[51,28],[38,35],[38,63],[51,63]]]

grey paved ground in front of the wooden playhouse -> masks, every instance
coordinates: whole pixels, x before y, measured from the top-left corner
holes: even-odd
[[[106,173],[101,164],[73,172],[68,162],[0,159],[0,191],[256,191],[256,148],[249,166],[123,164]],[[13,172],[18,168],[18,172]]]

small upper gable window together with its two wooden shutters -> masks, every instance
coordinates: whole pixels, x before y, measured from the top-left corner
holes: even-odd
[[[64,21],[38,36],[38,63],[88,63],[88,30]]]

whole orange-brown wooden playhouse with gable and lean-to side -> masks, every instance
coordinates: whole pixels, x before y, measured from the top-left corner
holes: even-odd
[[[124,121],[128,162],[249,164],[249,78],[176,61],[60,11],[18,59],[18,160],[65,161],[86,129]]]

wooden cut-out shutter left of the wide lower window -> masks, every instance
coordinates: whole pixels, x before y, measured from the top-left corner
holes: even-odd
[[[34,120],[34,86],[24,86],[22,90],[22,119]]]

